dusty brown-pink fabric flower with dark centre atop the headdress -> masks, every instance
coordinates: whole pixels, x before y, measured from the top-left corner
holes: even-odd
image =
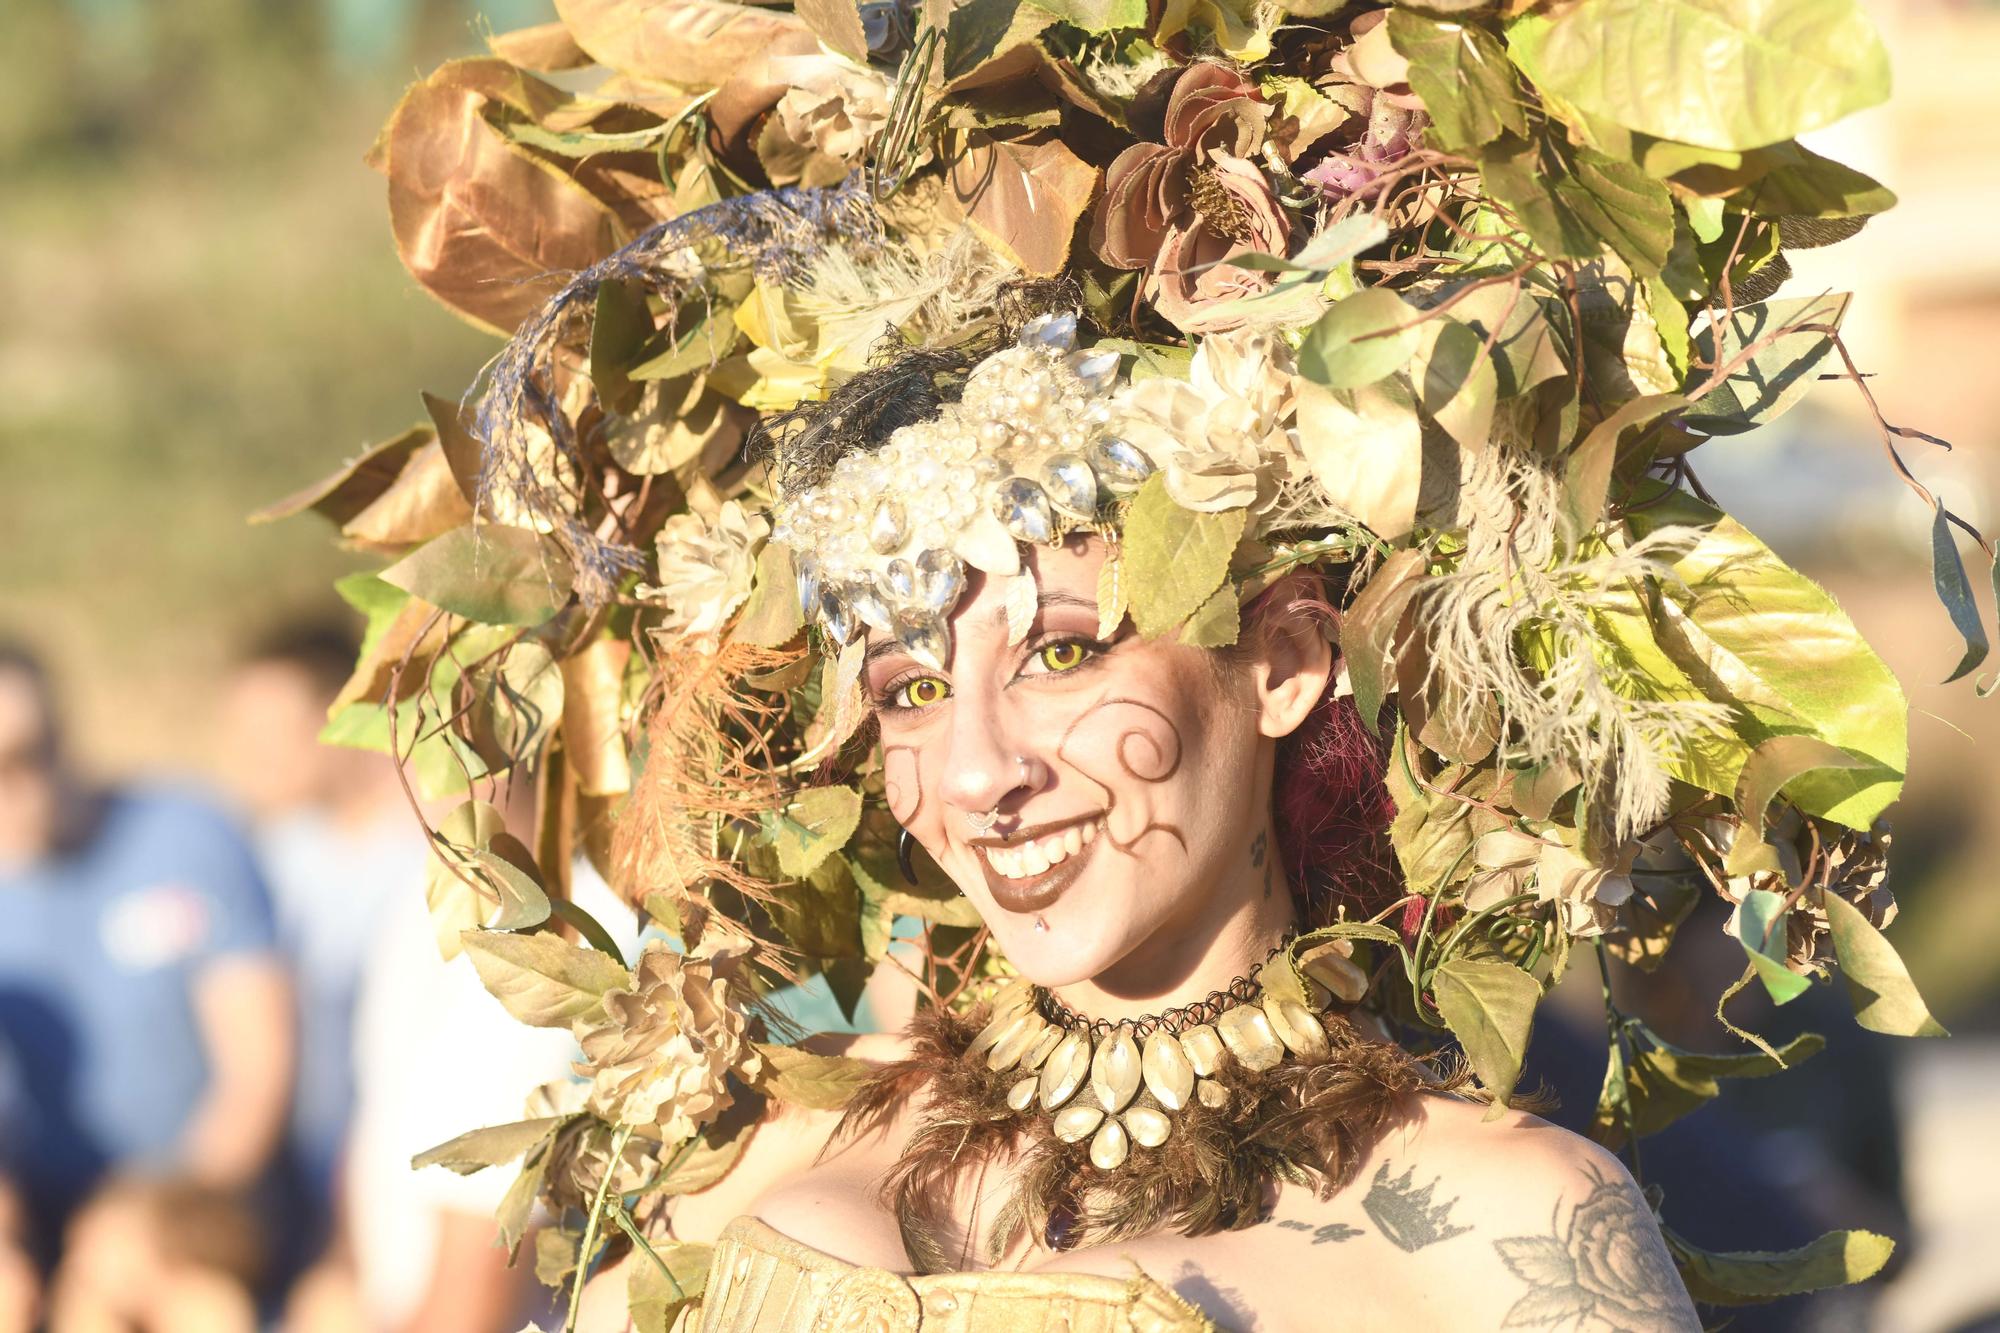
[[[1182,332],[1232,328],[1240,316],[1204,318],[1202,308],[1270,288],[1270,274],[1222,260],[1290,244],[1292,224],[1250,160],[1270,116],[1240,72],[1190,64],[1166,98],[1164,142],[1134,144],[1104,172],[1092,246],[1106,264],[1148,270],[1148,296]],[[1190,272],[1204,264],[1218,266]]]

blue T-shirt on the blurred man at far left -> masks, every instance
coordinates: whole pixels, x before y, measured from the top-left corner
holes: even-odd
[[[82,847],[0,873],[0,1171],[44,1219],[172,1161],[208,1085],[196,981],[270,951],[248,843],[190,795],[112,793]]]

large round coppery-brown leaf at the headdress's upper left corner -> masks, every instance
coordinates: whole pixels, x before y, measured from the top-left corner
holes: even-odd
[[[564,270],[610,254],[618,226],[588,190],[494,130],[486,102],[448,78],[404,94],[388,126],[388,206],[410,274],[472,324],[506,334]]]

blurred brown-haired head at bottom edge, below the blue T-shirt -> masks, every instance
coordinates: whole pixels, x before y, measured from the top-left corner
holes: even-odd
[[[70,1223],[50,1333],[252,1333],[268,1263],[240,1195],[116,1177]]]

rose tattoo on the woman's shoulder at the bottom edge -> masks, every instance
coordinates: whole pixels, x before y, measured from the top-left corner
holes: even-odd
[[[1528,1283],[1500,1327],[1574,1333],[1700,1333],[1652,1213],[1624,1181],[1592,1189],[1544,1235],[1494,1241],[1500,1261]]]

